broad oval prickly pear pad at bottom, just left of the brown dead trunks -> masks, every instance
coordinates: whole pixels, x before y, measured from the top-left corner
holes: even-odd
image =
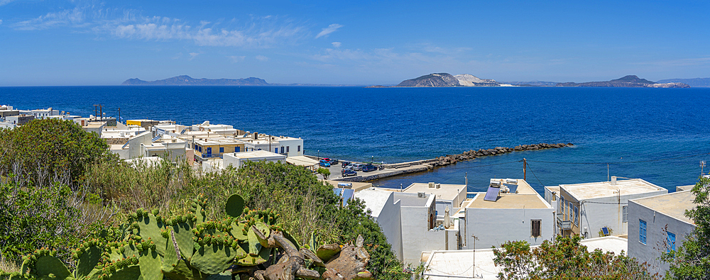
[[[190,259],[190,264],[204,274],[218,274],[231,266],[235,251],[225,245],[200,247]]]

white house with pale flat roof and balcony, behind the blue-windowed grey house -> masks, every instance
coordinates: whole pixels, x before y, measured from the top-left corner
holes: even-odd
[[[557,233],[591,238],[606,235],[606,228],[609,235],[626,235],[628,200],[667,193],[643,179],[559,185]]]

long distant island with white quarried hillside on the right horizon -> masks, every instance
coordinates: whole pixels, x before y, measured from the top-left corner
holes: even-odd
[[[709,81],[710,82],[710,81]],[[648,79],[641,79],[635,75],[628,75],[620,79],[613,79],[604,82],[586,83],[555,83],[555,82],[496,82],[493,79],[479,79],[471,74],[452,75],[449,73],[432,73],[407,79],[397,86],[407,87],[446,87],[446,86],[581,86],[581,87],[656,87],[656,88],[689,88],[688,84],[682,82],[651,82]],[[371,86],[386,87],[386,86]]]

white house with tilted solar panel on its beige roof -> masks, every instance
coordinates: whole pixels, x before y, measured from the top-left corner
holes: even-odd
[[[525,180],[491,179],[488,191],[473,195],[461,206],[462,249],[500,247],[513,240],[540,245],[554,237],[554,209]]]

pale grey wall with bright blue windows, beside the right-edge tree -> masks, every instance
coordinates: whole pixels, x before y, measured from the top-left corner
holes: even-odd
[[[646,222],[646,244],[639,241],[639,219]],[[683,244],[686,236],[692,233],[694,225],[653,211],[643,205],[629,201],[628,203],[628,256],[635,257],[639,262],[650,264],[651,273],[658,272],[665,276],[669,265],[660,261],[661,254],[666,252],[666,230],[675,234],[676,249]]]

